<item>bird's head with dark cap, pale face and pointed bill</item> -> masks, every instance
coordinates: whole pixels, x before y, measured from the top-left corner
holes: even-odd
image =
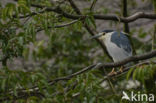
[[[106,35],[113,31],[114,30],[103,30],[102,32],[98,33],[97,35],[92,36],[91,39],[98,38],[100,40],[104,40],[106,38]]]

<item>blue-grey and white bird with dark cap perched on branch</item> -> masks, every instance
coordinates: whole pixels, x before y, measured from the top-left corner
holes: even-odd
[[[116,30],[103,30],[91,37],[91,39],[98,38],[101,40],[108,55],[114,62],[122,61],[130,56],[133,56],[132,44],[127,33]],[[122,71],[122,70],[121,70]],[[111,73],[114,72],[114,68]]]

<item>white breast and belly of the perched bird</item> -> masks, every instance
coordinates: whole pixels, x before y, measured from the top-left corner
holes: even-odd
[[[132,56],[132,53],[127,53],[125,50],[111,42],[111,34],[112,33],[108,33],[105,35],[104,43],[109,55],[113,58],[114,62],[122,61],[125,58]]]

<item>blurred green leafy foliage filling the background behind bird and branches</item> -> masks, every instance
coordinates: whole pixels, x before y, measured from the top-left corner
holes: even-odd
[[[50,80],[71,75],[84,67],[98,62],[111,62],[79,20],[61,28],[55,26],[72,20],[54,12],[31,7],[40,4],[56,7],[63,2],[57,0],[1,0],[0,6],[0,101],[6,103],[129,103],[122,101],[122,91],[156,93],[156,66],[131,68],[120,77],[103,80],[111,70],[91,70],[49,85]],[[94,20],[89,7],[92,0],[74,0],[91,28],[100,32],[104,29],[123,30],[123,24],[114,21]],[[155,0],[128,1],[128,14],[138,11],[154,13]],[[121,16],[121,0],[98,0],[94,13],[116,14]],[[155,3],[156,4],[156,3]],[[67,1],[61,8],[75,14]],[[36,15],[29,16],[31,13]],[[21,16],[27,16],[20,18]],[[155,20],[139,19],[129,24],[130,36],[137,54],[155,48]],[[153,59],[155,60],[155,59]],[[39,90],[31,95],[30,91]],[[26,95],[27,94],[27,95]]]

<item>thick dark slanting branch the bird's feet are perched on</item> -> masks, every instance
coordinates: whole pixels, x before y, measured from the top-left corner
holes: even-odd
[[[149,52],[149,53],[145,53],[145,54],[142,54],[142,55],[136,55],[136,56],[132,56],[132,57],[129,57],[125,60],[122,60],[121,62],[115,62],[115,63],[97,63],[97,64],[93,64],[93,65],[90,65],[76,73],[73,73],[71,75],[68,75],[68,76],[65,76],[65,77],[60,77],[60,78],[57,78],[57,79],[54,79],[52,81],[49,81],[50,85],[53,85],[54,83],[58,82],[58,81],[61,81],[61,80],[69,80],[71,79],[72,77],[75,77],[77,75],[80,75],[88,70],[91,70],[91,69],[99,69],[99,68],[113,68],[113,67],[119,67],[119,66],[123,66],[129,62],[134,62],[134,61],[140,61],[140,60],[146,60],[146,59],[150,59],[150,58],[153,58],[153,57],[156,57],[156,50],[155,51],[152,51],[152,52]],[[144,63],[144,62],[143,62]],[[145,64],[145,63],[144,63]],[[147,64],[147,62],[146,62]],[[150,64],[150,62],[148,62],[148,64]],[[139,63],[140,65],[140,63]],[[33,88],[36,88],[36,87],[33,87]]]

